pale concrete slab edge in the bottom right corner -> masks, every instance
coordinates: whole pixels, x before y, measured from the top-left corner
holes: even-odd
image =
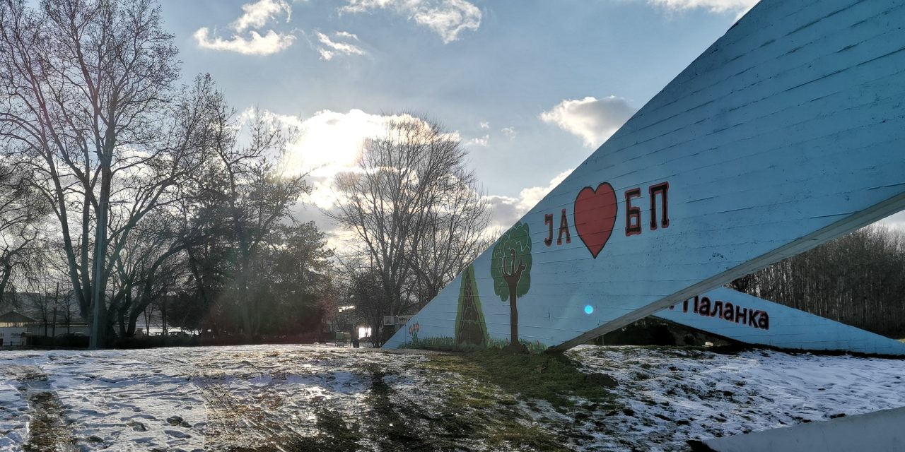
[[[901,452],[905,450],[905,408],[825,422],[775,428],[703,443],[718,452]]]

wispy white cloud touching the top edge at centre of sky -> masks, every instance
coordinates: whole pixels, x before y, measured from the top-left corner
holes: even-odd
[[[345,13],[365,13],[375,9],[389,9],[405,14],[415,24],[426,26],[443,38],[443,43],[459,39],[464,30],[481,26],[481,9],[466,0],[347,0],[339,8]]]

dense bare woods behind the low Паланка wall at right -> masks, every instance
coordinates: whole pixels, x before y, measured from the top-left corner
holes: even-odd
[[[905,337],[905,232],[869,226],[730,286],[846,325]]]

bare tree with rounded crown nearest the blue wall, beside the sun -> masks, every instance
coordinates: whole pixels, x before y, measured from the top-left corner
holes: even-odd
[[[487,207],[461,143],[436,123],[389,120],[382,137],[364,143],[357,171],[338,175],[335,190],[340,200],[327,214],[360,247],[356,263],[346,265],[353,287],[379,288],[367,298],[357,291],[377,310],[368,315],[374,326],[382,315],[422,306],[482,248]]]

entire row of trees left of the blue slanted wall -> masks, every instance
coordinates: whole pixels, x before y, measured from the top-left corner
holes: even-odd
[[[488,207],[438,124],[387,117],[336,176],[334,256],[292,216],[311,190],[281,166],[297,131],[181,80],[154,1],[0,2],[0,308],[33,294],[43,323],[96,319],[100,346],[148,317],[245,338],[367,324],[379,344],[385,315],[486,248]]]

